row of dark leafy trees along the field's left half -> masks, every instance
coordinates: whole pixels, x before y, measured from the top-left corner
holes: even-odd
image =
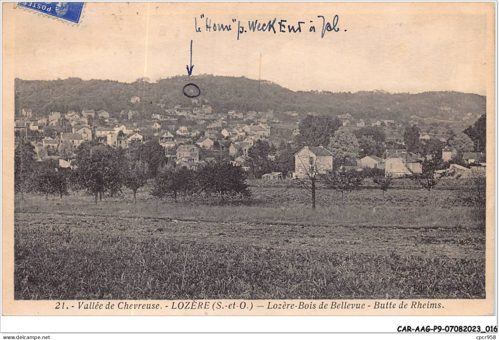
[[[121,192],[126,187],[133,192],[152,181],[151,194],[158,198],[179,194],[218,196],[222,201],[235,195],[249,195],[243,171],[229,162],[208,163],[193,171],[167,162],[161,146],[145,143],[128,152],[106,145],[83,143],[75,150],[74,170],[61,168],[54,160],[35,161],[34,148],[20,143],[14,155],[14,189],[20,193],[38,192],[59,195],[61,200],[70,190],[86,190],[94,202],[105,193]],[[159,146],[159,148],[158,148]]]

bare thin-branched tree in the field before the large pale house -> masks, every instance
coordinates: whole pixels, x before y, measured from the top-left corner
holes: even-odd
[[[315,210],[315,193],[324,183],[321,177],[333,166],[332,154],[322,146],[304,147],[295,154],[295,180],[311,193]]]

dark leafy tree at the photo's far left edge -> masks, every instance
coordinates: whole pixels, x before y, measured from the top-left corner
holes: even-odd
[[[21,199],[32,182],[35,158],[34,146],[28,142],[19,143],[14,149],[14,190],[21,194]]]

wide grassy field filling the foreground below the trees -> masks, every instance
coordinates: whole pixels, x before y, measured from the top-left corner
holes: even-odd
[[[15,206],[16,299],[484,298],[472,188],[352,192],[253,182],[250,200],[142,190]]]

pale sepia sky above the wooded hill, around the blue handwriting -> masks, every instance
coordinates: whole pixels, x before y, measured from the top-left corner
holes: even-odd
[[[292,90],[485,95],[486,51],[494,49],[487,43],[494,41],[493,3],[87,2],[78,25],[2,5],[3,34],[11,38],[3,52],[13,53],[4,67],[22,79],[187,74],[193,40],[193,74],[260,77]],[[321,37],[318,15],[328,22],[338,15],[338,32]],[[206,18],[232,30],[208,32]],[[246,32],[238,40],[239,21],[248,28],[248,20],[274,18],[277,31],[281,19],[305,23],[299,33]]]

